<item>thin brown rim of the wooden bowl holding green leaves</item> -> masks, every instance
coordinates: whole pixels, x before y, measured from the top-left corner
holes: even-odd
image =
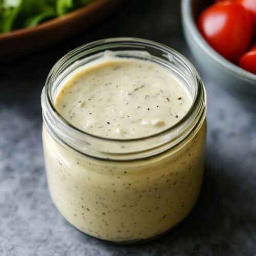
[[[121,2],[121,0],[115,0],[115,2]],[[62,16],[54,17],[49,20],[46,20],[45,22],[42,22],[37,26],[20,28],[20,29],[15,29],[13,31],[0,33],[0,41],[11,39],[18,36],[24,36],[24,35],[33,34],[36,32],[45,31],[47,29],[50,29],[52,26],[56,26],[56,25],[60,25],[62,23],[68,22],[69,20],[77,16],[82,16],[84,13],[89,13],[90,11],[97,10],[98,8],[103,7],[110,3],[112,3],[112,0],[95,0],[94,2],[88,5],[82,6]]]

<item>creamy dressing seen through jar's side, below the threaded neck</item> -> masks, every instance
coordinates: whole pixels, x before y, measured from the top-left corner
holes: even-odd
[[[61,214],[91,236],[132,242],[183,220],[196,203],[206,125],[179,151],[142,161],[102,161],[57,143],[43,131],[48,185]]]

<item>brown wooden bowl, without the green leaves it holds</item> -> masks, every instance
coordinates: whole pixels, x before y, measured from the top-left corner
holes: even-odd
[[[88,28],[112,11],[121,0],[97,0],[32,28],[0,34],[0,62],[54,45]]]

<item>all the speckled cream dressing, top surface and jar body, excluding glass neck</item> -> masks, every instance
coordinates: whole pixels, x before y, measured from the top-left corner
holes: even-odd
[[[65,79],[55,106],[82,131],[130,139],[166,130],[188,112],[191,101],[177,76],[156,63],[102,58]],[[52,199],[72,225],[91,236],[116,242],[158,236],[195,205],[203,176],[205,133],[202,121],[174,149],[118,162],[80,154],[55,140],[44,125]]]

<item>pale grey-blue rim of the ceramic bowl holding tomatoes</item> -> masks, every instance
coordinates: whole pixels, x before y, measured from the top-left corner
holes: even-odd
[[[215,51],[207,41],[200,34],[195,20],[193,18],[191,9],[192,9],[192,0],[182,0],[181,1],[181,13],[185,27],[188,29],[190,36],[196,41],[199,47],[207,54],[210,58],[214,59],[220,66],[222,66],[226,71],[239,76],[245,80],[255,81],[254,85],[256,87],[256,75],[250,73],[239,66],[233,64],[229,60],[221,56],[217,51]]]

